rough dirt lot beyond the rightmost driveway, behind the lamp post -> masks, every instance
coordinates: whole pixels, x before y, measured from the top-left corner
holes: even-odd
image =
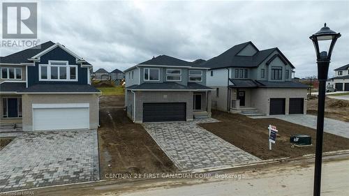
[[[306,104],[307,114],[318,115],[318,98],[308,100]],[[339,121],[349,122],[349,100],[326,98],[325,117]]]

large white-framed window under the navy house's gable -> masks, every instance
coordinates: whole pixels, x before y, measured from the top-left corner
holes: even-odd
[[[40,81],[77,81],[77,65],[69,65],[68,61],[48,61],[39,64]]]

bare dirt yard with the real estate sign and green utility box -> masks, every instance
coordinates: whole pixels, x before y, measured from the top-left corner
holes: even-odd
[[[261,159],[297,157],[315,153],[315,130],[280,119],[250,119],[241,114],[213,111],[212,117],[221,122],[202,123],[200,126],[218,135],[223,140],[253,154]],[[279,130],[276,144],[269,151],[268,126],[272,124]],[[313,146],[291,147],[290,135],[311,135]],[[324,133],[324,151],[349,149],[349,140]]]

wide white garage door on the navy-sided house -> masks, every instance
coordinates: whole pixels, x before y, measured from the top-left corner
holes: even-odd
[[[33,130],[89,128],[89,103],[33,104]]]

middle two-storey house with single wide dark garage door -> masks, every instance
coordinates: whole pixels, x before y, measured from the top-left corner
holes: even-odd
[[[192,121],[211,116],[207,70],[161,55],[125,70],[125,107],[135,123]]]

